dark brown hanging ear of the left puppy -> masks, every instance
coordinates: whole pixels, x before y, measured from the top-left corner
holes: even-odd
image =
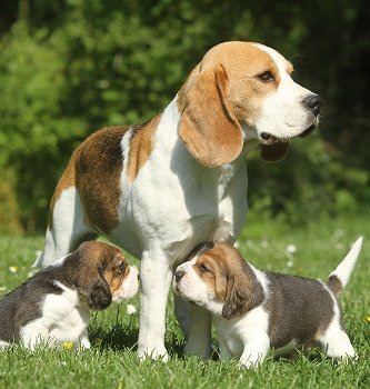
[[[91,309],[106,309],[112,302],[112,293],[101,268],[98,269],[96,279],[90,280],[89,285],[81,287],[79,292],[87,298]]]

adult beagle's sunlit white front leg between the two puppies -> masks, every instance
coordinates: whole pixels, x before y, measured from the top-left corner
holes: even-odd
[[[140,358],[168,360],[164,347],[166,305],[172,280],[168,258],[161,251],[146,251],[140,269],[140,330],[138,355]]]

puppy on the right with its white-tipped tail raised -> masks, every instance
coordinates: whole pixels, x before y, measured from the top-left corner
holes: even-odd
[[[343,330],[338,293],[347,285],[362,238],[326,282],[260,271],[226,243],[204,246],[174,272],[174,291],[214,320],[221,359],[246,367],[270,347],[319,345],[329,357],[356,357]]]

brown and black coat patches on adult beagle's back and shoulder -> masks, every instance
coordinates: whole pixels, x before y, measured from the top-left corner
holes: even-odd
[[[79,146],[58,182],[50,203],[49,229],[52,229],[52,213],[61,193],[76,187],[82,202],[84,222],[109,233],[118,225],[118,207],[121,198],[120,177],[123,168],[121,140],[132,129],[128,181],[133,182],[139,170],[152,151],[152,134],[160,116],[144,124],[108,127],[92,133]]]

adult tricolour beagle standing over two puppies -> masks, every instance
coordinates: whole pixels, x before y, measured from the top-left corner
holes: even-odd
[[[141,259],[139,356],[164,357],[173,268],[202,241],[233,243],[247,215],[246,154],[284,157],[317,126],[320,99],[263,44],[209,50],[164,111],[143,124],[92,133],[73,152],[50,206],[50,265],[103,235]],[[176,301],[186,350],[210,352],[210,316]],[[197,320],[192,320],[192,317]]]

